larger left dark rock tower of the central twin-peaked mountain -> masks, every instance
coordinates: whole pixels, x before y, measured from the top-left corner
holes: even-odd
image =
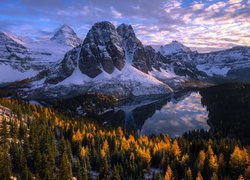
[[[115,26],[110,22],[96,23],[82,44],[79,58],[80,70],[91,78],[103,70],[109,74],[115,68],[122,70],[125,55]]]

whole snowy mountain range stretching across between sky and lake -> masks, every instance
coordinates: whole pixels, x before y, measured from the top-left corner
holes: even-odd
[[[39,42],[1,32],[0,74],[2,86],[18,83],[26,98],[164,94],[187,81],[250,83],[250,47],[198,53],[173,41],[157,51],[144,46],[131,25],[98,22],[83,41],[63,25]]]

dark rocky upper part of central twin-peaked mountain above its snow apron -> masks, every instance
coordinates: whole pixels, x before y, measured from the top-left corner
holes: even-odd
[[[121,24],[115,28],[110,22],[97,22],[87,33],[82,45],[65,55],[58,67],[60,73],[53,71],[54,75],[48,78],[48,82],[56,84],[76,70],[89,78],[96,78],[101,74],[113,75],[117,70],[123,71],[131,66],[146,74],[154,69],[175,70],[180,66],[167,65],[166,62],[169,63],[163,55],[142,44],[131,25]]]

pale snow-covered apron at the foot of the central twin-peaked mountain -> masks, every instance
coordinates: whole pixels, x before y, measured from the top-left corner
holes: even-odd
[[[78,86],[90,92],[106,92],[119,95],[134,96],[146,94],[165,94],[173,90],[153,76],[145,74],[131,65],[126,65],[121,71],[116,69],[112,74],[102,72],[95,78],[90,78],[76,68],[71,76],[49,88],[66,88]]]

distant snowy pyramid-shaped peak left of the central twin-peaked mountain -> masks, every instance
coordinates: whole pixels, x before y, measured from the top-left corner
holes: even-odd
[[[50,40],[71,47],[76,47],[81,43],[74,30],[66,24],[62,25]]]

